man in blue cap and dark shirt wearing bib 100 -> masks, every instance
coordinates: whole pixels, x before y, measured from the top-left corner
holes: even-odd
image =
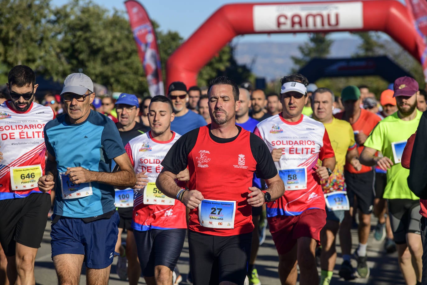
[[[126,145],[130,139],[145,133],[148,128],[135,119],[139,113],[138,98],[133,94],[122,93],[115,103],[117,120],[117,129],[122,138],[123,145]],[[116,189],[115,189],[116,190]],[[114,206],[120,216],[119,234],[115,251],[119,253],[117,259],[116,271],[121,280],[129,278],[129,284],[138,284],[141,275],[140,265],[136,252],[135,237],[132,232],[132,210],[133,210],[133,190],[116,190]],[[122,243],[122,232],[126,229],[126,242]],[[129,262],[129,266],[126,264]]]

